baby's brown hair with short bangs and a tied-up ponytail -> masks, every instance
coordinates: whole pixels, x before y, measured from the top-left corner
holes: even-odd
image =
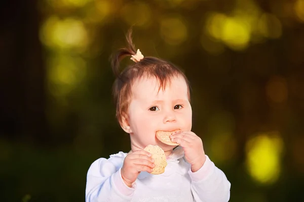
[[[144,57],[120,72],[120,61],[127,56],[131,57],[131,55],[136,54],[132,42],[132,29],[127,32],[126,38],[128,46],[119,49],[111,56],[111,67],[116,76],[113,84],[113,96],[116,102],[116,117],[120,124],[122,124],[123,116],[127,115],[132,96],[132,84],[135,79],[140,79],[142,76],[157,78],[160,83],[159,90],[165,90],[166,84],[170,83],[173,77],[182,76],[188,86],[188,98],[190,99],[189,82],[186,76],[178,67],[168,61],[155,57]]]

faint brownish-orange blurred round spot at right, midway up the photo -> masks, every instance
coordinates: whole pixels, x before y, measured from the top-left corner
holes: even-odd
[[[287,100],[287,82],[283,77],[275,76],[270,79],[266,86],[267,96],[275,103],[283,103]]]

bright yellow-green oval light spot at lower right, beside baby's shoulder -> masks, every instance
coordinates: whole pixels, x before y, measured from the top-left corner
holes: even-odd
[[[258,134],[246,143],[246,166],[251,177],[262,184],[274,183],[281,172],[283,140],[277,132]]]

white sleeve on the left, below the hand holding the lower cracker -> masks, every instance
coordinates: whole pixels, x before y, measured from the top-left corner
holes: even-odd
[[[122,179],[121,169],[109,160],[100,158],[89,168],[86,185],[86,202],[129,202],[135,189]]]

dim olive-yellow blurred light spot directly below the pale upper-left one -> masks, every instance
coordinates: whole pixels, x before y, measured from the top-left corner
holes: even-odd
[[[79,57],[59,56],[48,61],[48,83],[55,96],[64,96],[86,76],[86,62]]]

